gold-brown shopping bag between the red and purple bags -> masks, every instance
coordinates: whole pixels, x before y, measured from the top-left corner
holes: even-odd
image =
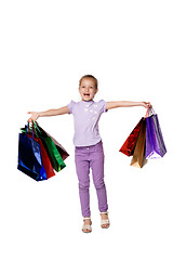
[[[133,153],[131,166],[142,168],[145,160],[146,119],[143,118],[136,146]]]

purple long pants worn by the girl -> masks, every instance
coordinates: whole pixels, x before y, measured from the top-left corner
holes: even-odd
[[[98,209],[105,212],[108,209],[107,194],[104,182],[104,151],[102,141],[92,146],[76,147],[75,161],[79,180],[79,195],[82,216],[90,217],[90,168],[97,193]]]

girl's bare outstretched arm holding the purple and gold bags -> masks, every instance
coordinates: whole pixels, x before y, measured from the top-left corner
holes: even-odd
[[[144,106],[145,108],[148,108],[148,106],[150,106],[150,102],[112,101],[112,102],[107,102],[106,109],[112,109],[117,107],[131,107],[131,106]]]

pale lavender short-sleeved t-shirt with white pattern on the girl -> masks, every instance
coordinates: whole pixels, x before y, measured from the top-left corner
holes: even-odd
[[[74,115],[75,122],[75,146],[90,146],[101,141],[98,131],[98,120],[101,115],[106,110],[106,102],[101,100],[94,101],[71,101],[68,105],[70,113]]]

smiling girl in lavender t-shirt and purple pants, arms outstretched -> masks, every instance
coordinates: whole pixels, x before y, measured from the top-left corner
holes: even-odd
[[[98,132],[98,120],[102,113],[117,107],[144,106],[148,108],[149,102],[115,101],[105,102],[101,100],[94,102],[97,93],[97,79],[92,75],[83,76],[79,81],[80,102],[71,101],[67,106],[46,112],[28,112],[31,117],[28,121],[37,120],[43,116],[57,116],[72,114],[75,121],[75,161],[79,180],[79,195],[81,211],[83,216],[82,231],[90,233],[92,231],[90,212],[90,168],[92,169],[93,182],[97,193],[98,209],[101,212],[101,226],[109,227],[108,204],[106,186],[104,182],[104,151],[103,143]]]

